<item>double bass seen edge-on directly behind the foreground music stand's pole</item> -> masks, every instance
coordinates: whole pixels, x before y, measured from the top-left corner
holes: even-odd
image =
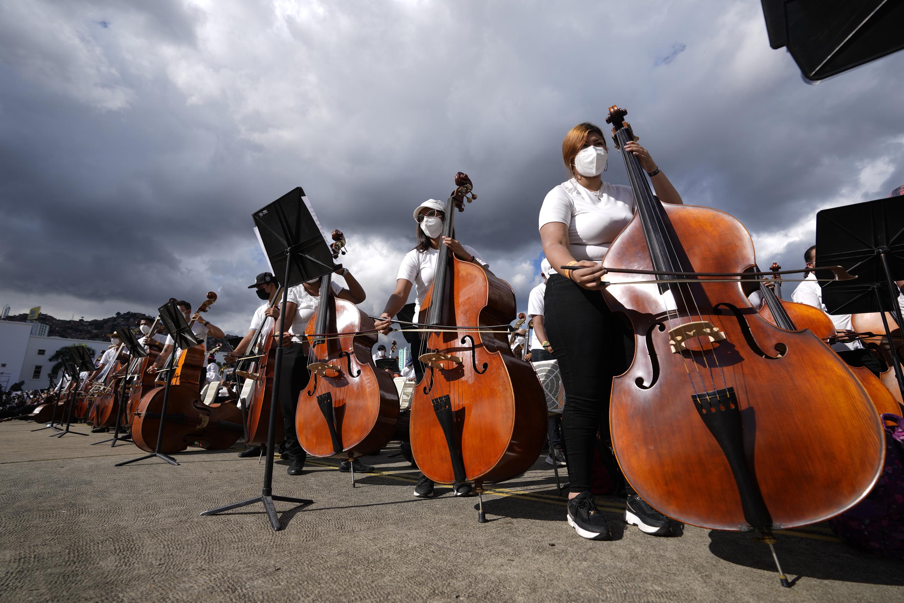
[[[282,296],[282,287],[268,302],[268,307],[276,306]],[[270,423],[270,396],[273,392],[273,371],[276,368],[277,346],[274,345],[276,323],[268,316],[258,327],[248,346],[250,358],[236,363],[235,374],[244,378],[239,400],[248,410],[247,446],[263,446],[267,443],[267,429]],[[286,437],[279,405],[277,412],[276,442]]]

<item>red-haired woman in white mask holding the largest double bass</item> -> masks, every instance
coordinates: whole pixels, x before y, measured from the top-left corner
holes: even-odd
[[[681,195],[643,146],[630,142],[624,151],[640,160],[660,201],[682,203]],[[546,285],[543,322],[568,396],[562,413],[571,484],[568,522],[580,536],[592,540],[609,537],[606,521],[590,494],[597,431],[604,443],[603,461],[618,492],[627,497],[626,522],[645,533],[671,533],[668,518],[626,484],[609,443],[612,377],[626,369],[626,341],[630,340],[626,327],[612,315],[600,294],[604,274],[600,260],[635,208],[630,186],[603,182],[607,154],[606,137],[598,126],[582,123],[572,127],[562,141],[562,160],[571,177],[546,195],[540,210],[543,252],[555,270]],[[575,264],[583,268],[559,268]]]

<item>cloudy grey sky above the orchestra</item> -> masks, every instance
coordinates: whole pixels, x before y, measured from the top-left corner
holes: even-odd
[[[7,0],[0,305],[95,318],[214,290],[211,320],[243,333],[251,212],[301,185],[379,312],[411,210],[460,170],[479,198],[458,237],[524,309],[561,139],[614,104],[685,203],[798,267],[816,211],[904,184],[902,72],[898,53],[806,85],[758,0]]]

